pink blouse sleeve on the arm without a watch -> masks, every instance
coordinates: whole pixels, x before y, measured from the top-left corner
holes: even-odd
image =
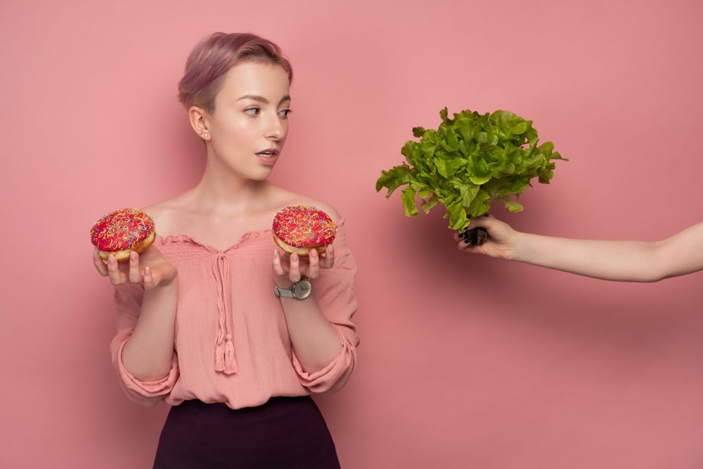
[[[127,397],[138,404],[155,406],[169,394],[179,377],[178,359],[174,352],[171,370],[161,380],[140,381],[134,378],[122,364],[122,349],[132,335],[139,319],[144,288],[135,283],[124,283],[115,287],[115,310],[117,312],[117,335],[110,343],[112,364],[117,371],[122,390]]]

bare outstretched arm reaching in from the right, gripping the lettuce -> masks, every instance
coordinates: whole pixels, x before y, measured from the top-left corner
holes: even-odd
[[[520,233],[494,217],[472,219],[471,227],[477,226],[488,231],[486,243],[471,246],[455,234],[460,250],[612,281],[656,282],[703,270],[703,223],[657,242]]]

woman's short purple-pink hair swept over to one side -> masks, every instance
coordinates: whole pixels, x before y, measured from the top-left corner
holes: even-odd
[[[198,42],[188,56],[178,84],[178,100],[186,109],[198,105],[212,114],[224,75],[241,62],[278,64],[288,73],[288,82],[293,79],[290,62],[273,42],[256,34],[216,32]]]

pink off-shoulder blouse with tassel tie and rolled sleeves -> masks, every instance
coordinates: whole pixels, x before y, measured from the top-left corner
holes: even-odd
[[[143,288],[115,288],[117,335],[112,362],[127,396],[148,406],[164,399],[224,402],[232,409],[258,406],[274,396],[302,396],[339,390],[356,364],[359,337],[356,263],[347,246],[344,221],[337,223],[335,265],[321,271],[313,292],[337,330],[342,349],[325,368],[309,373],[295,356],[283,307],[273,294],[271,230],[250,231],[231,248],[217,250],[190,236],[157,236],[154,245],[178,268],[178,306],[171,371],[145,383],[122,364],[122,348],[138,321]]]

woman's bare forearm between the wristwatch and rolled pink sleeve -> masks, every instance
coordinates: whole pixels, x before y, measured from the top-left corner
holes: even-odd
[[[340,335],[325,318],[311,295],[306,300],[281,298],[288,335],[295,356],[308,373],[314,373],[330,364],[342,350]]]

